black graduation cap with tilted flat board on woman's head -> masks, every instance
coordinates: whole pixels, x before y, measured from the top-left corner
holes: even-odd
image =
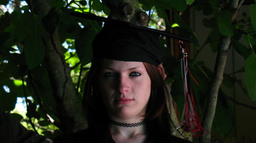
[[[105,18],[85,13],[71,13],[73,16],[103,21],[103,29],[93,40],[93,57],[108,58],[120,61],[139,61],[159,65],[164,52],[160,48],[161,35],[195,42],[193,39],[134,25],[130,22]]]

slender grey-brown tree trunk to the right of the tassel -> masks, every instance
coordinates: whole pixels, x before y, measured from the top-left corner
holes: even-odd
[[[232,0],[226,5],[226,10],[229,10],[232,15],[231,19],[234,21],[237,17],[237,13],[244,0]],[[215,63],[214,75],[211,80],[209,97],[204,112],[204,118],[202,127],[205,130],[204,135],[199,139],[200,143],[211,142],[211,127],[214,120],[216,105],[218,100],[218,92],[223,80],[224,69],[227,61],[228,48],[231,42],[231,37],[221,36],[220,43],[218,45],[218,54]]]

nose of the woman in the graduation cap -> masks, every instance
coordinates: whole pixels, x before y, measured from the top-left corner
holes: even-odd
[[[117,82],[118,91],[126,94],[130,90],[130,80],[128,77],[120,76],[119,82]]]

